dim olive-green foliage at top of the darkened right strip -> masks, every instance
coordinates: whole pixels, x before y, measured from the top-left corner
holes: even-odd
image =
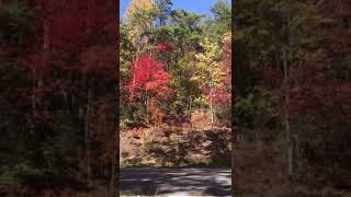
[[[288,62],[318,61],[324,51],[318,45],[324,35],[315,30],[328,20],[318,14],[313,3],[298,1],[246,0],[236,4],[234,39],[246,44],[250,67],[260,67],[275,58],[281,65],[282,50],[288,48]],[[240,24],[246,24],[240,27]],[[279,66],[278,66],[279,67]]]

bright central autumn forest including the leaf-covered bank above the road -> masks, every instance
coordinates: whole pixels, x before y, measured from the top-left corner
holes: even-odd
[[[211,12],[131,1],[120,23],[122,166],[214,164],[214,152],[230,166],[231,5]],[[224,149],[199,153],[210,135]]]

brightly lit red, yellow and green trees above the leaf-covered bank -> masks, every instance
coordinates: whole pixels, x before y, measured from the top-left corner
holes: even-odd
[[[174,10],[170,0],[131,2],[120,22],[122,128],[191,125],[196,109],[212,125],[230,126],[230,3],[211,11],[213,18]]]

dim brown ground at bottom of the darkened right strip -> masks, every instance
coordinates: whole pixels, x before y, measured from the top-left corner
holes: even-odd
[[[350,189],[320,183],[312,167],[290,182],[282,147],[274,142],[238,141],[235,146],[235,190],[238,197],[351,197]]]

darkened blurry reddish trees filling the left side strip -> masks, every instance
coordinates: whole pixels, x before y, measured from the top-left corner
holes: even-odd
[[[114,1],[0,1],[0,193],[116,189]],[[111,185],[111,188],[109,188]]]

